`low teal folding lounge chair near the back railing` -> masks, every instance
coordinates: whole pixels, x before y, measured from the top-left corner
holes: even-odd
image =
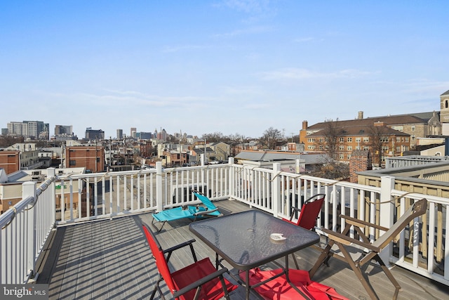
[[[168,221],[175,221],[179,219],[192,219],[196,221],[199,218],[205,218],[210,216],[221,216],[218,208],[213,204],[212,201],[205,195],[201,194],[196,190],[192,190],[192,193],[202,202],[202,206],[187,206],[187,207],[175,207],[173,209],[167,209],[164,211],[159,211],[156,214],[152,214],[153,221],[152,224],[154,227],[154,221],[162,222],[161,228],[158,231],[161,231],[164,224]]]

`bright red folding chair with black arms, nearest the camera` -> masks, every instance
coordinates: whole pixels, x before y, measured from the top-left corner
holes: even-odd
[[[175,247],[163,250],[161,244],[159,244],[159,241],[147,224],[142,223],[142,226],[159,270],[159,279],[156,282],[150,299],[154,299],[156,290],[161,295],[161,299],[165,299],[159,287],[159,283],[162,280],[166,282],[170,293],[173,294],[175,299],[217,300],[223,296],[229,299],[229,292],[236,289],[237,286],[223,278],[223,273],[227,272],[227,268],[215,269],[208,258],[198,261],[192,244],[195,240],[189,240]],[[172,252],[186,246],[190,247],[194,263],[173,273],[170,272],[168,260]]]

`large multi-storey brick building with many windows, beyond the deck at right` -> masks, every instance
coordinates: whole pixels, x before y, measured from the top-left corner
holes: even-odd
[[[419,115],[419,114],[418,114]],[[421,114],[424,116],[424,114]],[[438,132],[431,127],[430,116],[422,119],[415,115],[396,115],[388,117],[358,118],[347,121],[329,121],[308,126],[302,122],[300,142],[307,152],[326,153],[335,149],[335,159],[349,162],[354,150],[368,150],[373,163],[381,165],[385,157],[400,156],[415,146],[416,138]],[[439,123],[436,123],[438,126]],[[332,140],[332,141],[330,141]],[[380,155],[379,155],[379,152]],[[381,157],[381,162],[377,157]]]

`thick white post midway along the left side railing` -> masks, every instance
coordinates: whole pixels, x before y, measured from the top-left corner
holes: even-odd
[[[37,201],[36,199],[36,183],[32,181],[27,181],[22,183],[22,199],[27,199],[28,197],[33,198],[33,202],[30,202],[29,205],[32,207],[34,203]],[[26,245],[22,245],[27,249],[27,275],[29,275],[29,271],[34,272],[34,264],[36,262],[36,209],[32,209],[31,212],[28,211],[27,215],[27,242]],[[25,232],[22,233],[25,235]]]

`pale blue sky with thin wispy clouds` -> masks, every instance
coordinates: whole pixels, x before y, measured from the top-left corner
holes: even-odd
[[[439,110],[448,1],[0,1],[0,127],[286,136]]]

